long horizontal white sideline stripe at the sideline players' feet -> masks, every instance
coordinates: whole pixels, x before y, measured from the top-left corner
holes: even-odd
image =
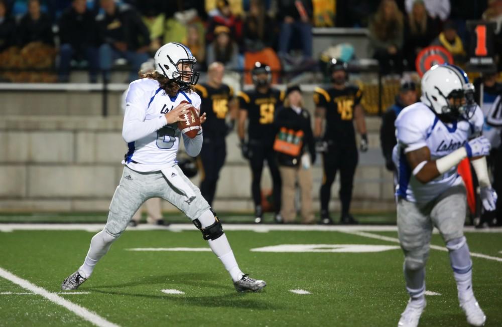
[[[0,232],[12,232],[17,230],[28,231],[87,231],[98,232],[102,230],[104,224],[1,224]],[[252,231],[252,232],[272,232],[272,231],[297,231],[297,232],[396,232],[397,226],[389,225],[254,225],[254,224],[225,224],[223,228],[227,231]],[[149,231],[149,230],[166,230],[171,232],[179,231],[196,231],[197,229],[193,224],[171,224],[169,227],[141,224],[137,227],[130,227],[128,231]],[[489,229],[475,229],[472,226],[464,228],[466,233],[502,233],[502,227],[489,228]],[[434,229],[434,233],[437,230]]]

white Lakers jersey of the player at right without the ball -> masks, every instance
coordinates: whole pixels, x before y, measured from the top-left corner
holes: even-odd
[[[481,132],[483,114],[476,107],[469,120],[443,123],[438,116],[422,102],[412,104],[398,115],[396,122],[397,145],[394,147],[393,160],[398,168],[396,196],[410,202],[429,202],[448,188],[462,183],[453,167],[429,183],[416,180],[406,158],[406,153],[427,146],[431,159],[436,160],[460,148],[465,142]]]

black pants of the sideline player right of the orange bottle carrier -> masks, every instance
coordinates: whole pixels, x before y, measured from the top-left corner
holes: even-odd
[[[355,168],[357,166],[357,147],[354,146],[329,146],[328,151],[323,153],[323,178],[320,191],[321,212],[328,213],[329,200],[331,198],[331,185],[335,181],[336,172],[340,172],[340,201],[342,216],[348,215],[350,201],[352,200],[352,187],[354,182]]]

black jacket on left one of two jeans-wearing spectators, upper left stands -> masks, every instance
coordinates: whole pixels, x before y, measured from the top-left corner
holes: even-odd
[[[90,11],[78,14],[70,7],[61,14],[58,26],[61,44],[71,44],[77,51],[99,45],[96,19]]]

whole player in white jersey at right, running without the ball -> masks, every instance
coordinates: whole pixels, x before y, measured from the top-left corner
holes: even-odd
[[[472,261],[463,235],[465,187],[456,169],[462,159],[471,160],[482,204],[494,210],[497,195],[485,159],[490,144],[479,136],[483,115],[467,75],[453,65],[436,65],[424,74],[420,100],[406,107],[395,122],[398,232],[410,294],[398,325],[417,326],[425,308],[425,264],[435,226],[448,248],[460,307],[467,322],[481,326],[486,316],[472,291]]]

